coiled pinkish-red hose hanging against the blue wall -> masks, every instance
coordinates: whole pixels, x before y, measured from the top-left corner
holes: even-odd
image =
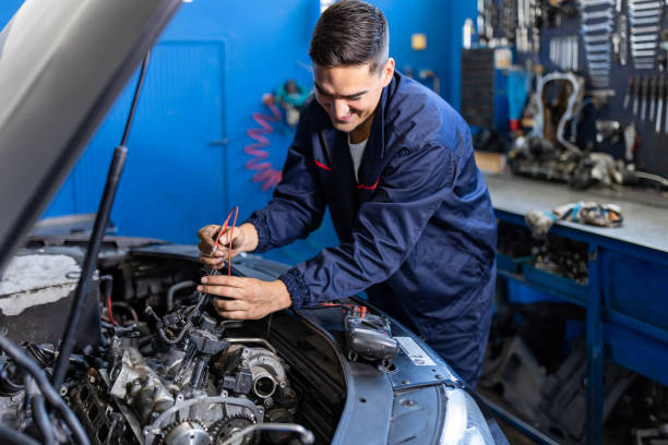
[[[262,190],[269,190],[276,187],[276,184],[278,184],[283,178],[281,170],[276,170],[272,166],[271,161],[265,160],[269,157],[269,152],[264,149],[270,145],[270,140],[264,135],[274,132],[274,128],[272,127],[271,122],[277,122],[281,120],[281,111],[278,111],[278,108],[276,108],[273,96],[271,96],[271,99],[265,100],[265,104],[272,110],[274,116],[253,112],[253,119],[261,128],[248,129],[246,131],[246,134],[257,142],[254,144],[249,144],[243,148],[243,152],[247,155],[252,156],[252,159],[246,163],[244,167],[247,170],[255,170],[252,181],[262,182]]]

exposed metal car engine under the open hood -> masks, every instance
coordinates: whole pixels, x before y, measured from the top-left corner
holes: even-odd
[[[91,443],[327,442],[343,407],[343,388],[333,390],[330,404],[322,395],[313,402],[318,386],[336,385],[331,378],[320,381],[317,361],[309,363],[301,351],[291,356],[301,357],[298,363],[282,357],[286,350],[290,356],[290,341],[308,333],[299,334],[289,322],[276,323],[270,335],[271,326],[260,322],[222,320],[210,304],[211,297],[195,291],[198,275],[195,264],[154,258],[133,258],[100,270],[102,341],[91,341],[72,356],[68,378],[57,388]],[[295,330],[299,337],[282,340],[282,329]],[[283,345],[283,353],[270,338]],[[24,348],[47,375],[52,372],[53,345],[28,341]],[[332,374],[332,358],[325,361]],[[295,375],[299,376],[296,387]],[[20,431],[38,426],[33,401],[39,392],[8,356],[0,356],[0,393],[5,425]],[[53,430],[51,443],[63,443],[67,425],[56,422]]]

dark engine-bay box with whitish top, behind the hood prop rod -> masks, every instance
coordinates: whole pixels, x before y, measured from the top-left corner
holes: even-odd
[[[11,340],[52,342],[65,330],[65,322],[81,266],[69,255],[16,255],[0,278],[0,325]],[[84,323],[79,326],[75,349],[102,344],[99,278],[95,275],[86,296]]]

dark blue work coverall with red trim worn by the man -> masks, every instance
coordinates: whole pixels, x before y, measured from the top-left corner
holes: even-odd
[[[341,244],[281,277],[293,308],[367,290],[462,377],[477,378],[497,228],[466,122],[433,92],[395,73],[377,108],[357,182],[347,135],[311,97],[282,182],[249,219],[260,238],[257,251],[305,238],[326,206]]]

